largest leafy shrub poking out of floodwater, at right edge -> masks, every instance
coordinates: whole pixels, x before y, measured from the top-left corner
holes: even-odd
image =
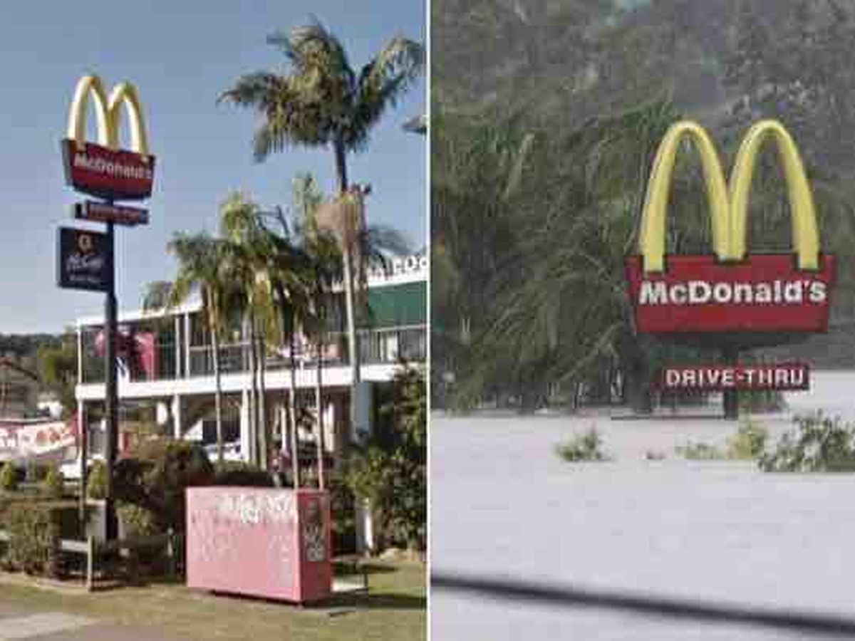
[[[775,451],[758,462],[764,472],[855,472],[855,430],[822,413],[796,417],[798,432],[787,432]]]

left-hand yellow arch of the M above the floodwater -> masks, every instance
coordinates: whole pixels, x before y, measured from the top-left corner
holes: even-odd
[[[702,126],[692,121],[681,121],[671,126],[656,153],[644,209],[641,214],[639,249],[644,257],[646,272],[661,272],[665,256],[665,215],[668,211],[671,176],[677,150],[683,137],[694,143],[704,170],[707,201],[710,204],[713,251],[720,260],[731,257],[730,216],[728,215],[728,190],[724,180],[722,162],[715,144]]]

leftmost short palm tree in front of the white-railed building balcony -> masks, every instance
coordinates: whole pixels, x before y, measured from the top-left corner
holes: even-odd
[[[178,272],[171,283],[157,281],[149,285],[144,309],[172,309],[186,300],[194,289],[202,297],[202,309],[208,323],[215,380],[215,422],[217,461],[223,461],[222,385],[220,374],[220,334],[227,323],[227,298],[233,281],[223,271],[223,246],[206,233],[189,235],[178,232],[167,245],[178,259]],[[187,338],[189,340],[189,337]]]

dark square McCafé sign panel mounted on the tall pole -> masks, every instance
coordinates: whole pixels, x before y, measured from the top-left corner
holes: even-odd
[[[56,236],[56,284],[65,289],[109,291],[113,256],[107,234],[60,227]]]

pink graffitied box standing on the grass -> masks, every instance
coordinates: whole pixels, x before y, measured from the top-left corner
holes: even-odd
[[[307,603],[333,585],[329,495],[187,489],[187,585]]]

